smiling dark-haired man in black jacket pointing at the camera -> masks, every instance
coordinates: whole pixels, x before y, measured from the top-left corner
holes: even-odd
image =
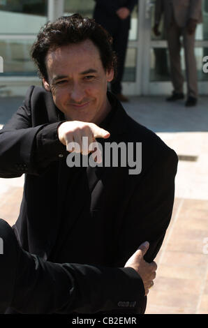
[[[14,226],[22,248],[51,262],[124,267],[148,240],[152,262],[172,214],[177,156],[107,92],[110,37],[94,20],[60,17],[40,31],[31,54],[45,89],[30,87],[0,131],[1,177],[25,173]],[[103,149],[123,142],[142,161],[140,174],[129,174],[131,163],[68,166],[71,143],[78,154],[82,137],[98,138]],[[145,306],[146,297],[136,311]]]

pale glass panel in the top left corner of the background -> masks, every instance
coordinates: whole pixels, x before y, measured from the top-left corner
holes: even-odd
[[[0,0],[0,33],[38,33],[46,20],[46,0]]]

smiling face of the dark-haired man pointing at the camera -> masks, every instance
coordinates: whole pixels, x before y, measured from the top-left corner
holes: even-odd
[[[59,47],[48,52],[45,63],[48,81],[43,84],[66,119],[100,123],[109,111],[107,82],[113,70],[105,72],[94,43]]]

